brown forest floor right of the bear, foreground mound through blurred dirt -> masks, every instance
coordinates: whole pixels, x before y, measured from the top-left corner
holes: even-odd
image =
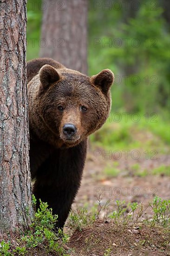
[[[101,136],[97,134],[95,139]],[[133,145],[135,140],[138,141],[137,147]],[[84,221],[86,225],[77,229],[75,216],[71,218],[75,231],[71,232],[68,244],[70,255],[170,256],[170,229],[150,225],[154,211],[156,213],[152,209],[153,204],[152,207],[150,205],[154,197],[170,199],[168,143],[164,143],[152,131],[141,129],[135,130],[133,141],[130,142],[129,147],[118,146],[117,152],[114,147],[111,150],[102,143],[94,142],[93,145],[90,142],[81,187],[72,212],[77,211],[81,220],[89,213],[96,214],[98,218],[93,222],[91,217],[89,221],[87,217]],[[123,148],[130,150],[126,153]],[[119,206],[118,201],[121,202]],[[129,205],[133,203],[140,206],[133,219],[119,222],[122,214],[120,209],[125,209],[122,216],[127,216],[131,211]],[[85,213],[83,208],[87,210]],[[140,209],[142,212],[138,218]],[[113,217],[115,212],[120,213],[117,219]],[[66,232],[70,229],[70,223],[70,220],[66,223]]]

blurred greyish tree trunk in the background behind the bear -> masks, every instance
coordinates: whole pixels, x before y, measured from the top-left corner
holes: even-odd
[[[43,1],[40,56],[87,74],[87,0]]]

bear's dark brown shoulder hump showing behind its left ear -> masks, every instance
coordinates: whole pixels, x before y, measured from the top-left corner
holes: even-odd
[[[48,64],[52,67],[55,67],[57,69],[65,68],[65,66],[63,66],[59,62],[54,61],[50,58],[39,58],[39,59],[34,59],[32,61],[28,61],[26,63],[28,82],[31,81],[33,79],[33,77],[39,73],[40,68],[46,64]]]

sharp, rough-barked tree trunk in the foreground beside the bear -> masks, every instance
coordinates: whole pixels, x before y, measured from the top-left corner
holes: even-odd
[[[33,215],[26,96],[26,0],[0,0],[0,231]]]

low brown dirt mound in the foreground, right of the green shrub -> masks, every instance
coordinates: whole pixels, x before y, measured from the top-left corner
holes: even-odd
[[[98,221],[75,231],[69,246],[72,256],[169,256],[168,234],[147,225],[118,227],[113,222]],[[170,240],[169,240],[170,241]]]

